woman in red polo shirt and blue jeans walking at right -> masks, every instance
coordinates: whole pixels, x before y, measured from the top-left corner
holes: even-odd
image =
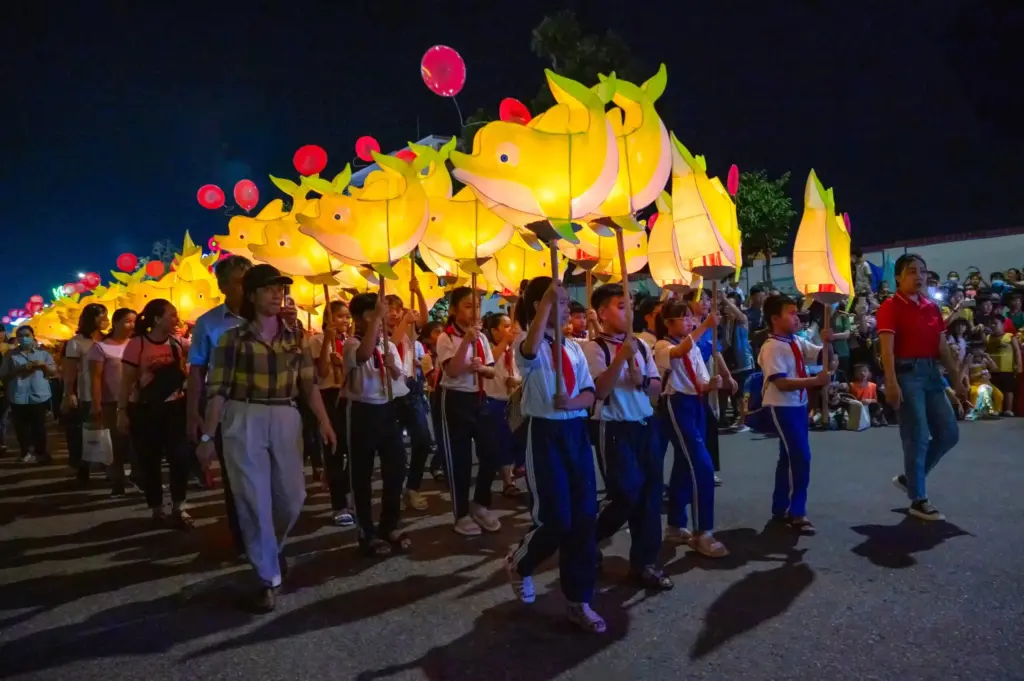
[[[896,295],[879,308],[877,320],[885,369],[886,402],[899,415],[903,440],[903,474],[893,484],[910,499],[910,515],[943,520],[930,501],[925,478],[939,459],[956,445],[959,427],[946,398],[939,371],[942,363],[957,392],[956,359],[945,340],[938,305],[928,299],[928,266],[908,253],[896,260]]]

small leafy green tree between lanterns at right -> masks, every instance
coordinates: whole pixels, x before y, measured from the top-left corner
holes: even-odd
[[[790,173],[771,179],[767,171],[740,173],[736,194],[736,219],[743,236],[748,263],[757,256],[766,260],[765,281],[771,284],[771,258],[790,241],[797,211],[785,191]]]

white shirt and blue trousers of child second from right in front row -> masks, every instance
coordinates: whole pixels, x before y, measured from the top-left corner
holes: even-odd
[[[705,533],[715,528],[715,465],[705,441],[707,408],[699,386],[711,376],[696,343],[686,356],[670,357],[678,344],[674,338],[664,338],[654,347],[663,376],[665,430],[675,451],[669,477],[669,525],[685,527],[686,507],[690,506],[693,528]]]

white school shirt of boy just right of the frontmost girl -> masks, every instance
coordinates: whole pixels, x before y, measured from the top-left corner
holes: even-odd
[[[641,339],[637,338],[636,340],[642,349],[638,349],[630,361],[639,363],[640,371],[645,378],[657,380],[657,367],[654,365],[653,350]],[[608,368],[608,363],[614,360],[615,353],[618,352],[622,344],[622,338],[601,335],[584,346],[583,351],[587,356],[587,364],[590,366],[590,375],[595,381]],[[607,354],[605,354],[605,349],[608,351]],[[644,387],[638,387],[630,380],[628,365],[629,363],[623,365],[608,396],[596,403],[594,408],[595,419],[637,422],[649,419],[654,415],[654,409],[650,405]]]

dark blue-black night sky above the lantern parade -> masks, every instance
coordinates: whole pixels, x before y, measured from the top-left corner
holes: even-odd
[[[28,4],[0,28],[3,310],[185,228],[205,243],[226,217],[199,186],[248,175],[266,199],[301,144],[327,148],[333,174],[358,135],[393,150],[417,125],[456,133],[420,80],[430,45],[465,58],[467,114],[528,100],[546,66],[530,29],[560,6],[650,73],[666,62],[667,125],[712,171],[792,170],[797,198],[813,166],[857,244],[1024,222],[1024,12],[1009,0]]]

